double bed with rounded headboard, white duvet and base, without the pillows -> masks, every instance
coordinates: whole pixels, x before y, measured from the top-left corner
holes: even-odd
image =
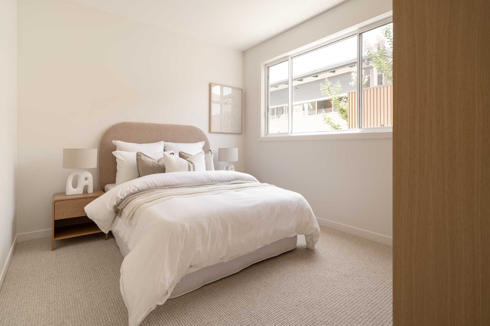
[[[106,193],[85,211],[103,232],[112,232],[124,256],[120,284],[130,326],[168,299],[294,249],[299,234],[309,249],[319,239],[316,218],[301,195],[249,174],[173,172],[117,186],[112,140],[204,141],[204,151],[210,145],[202,130],[170,124],[123,122],[100,138],[99,188]]]

